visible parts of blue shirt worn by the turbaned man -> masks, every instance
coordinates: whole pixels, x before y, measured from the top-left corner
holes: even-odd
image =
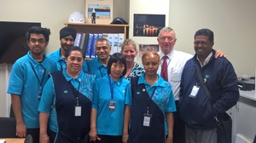
[[[64,58],[61,57],[61,48],[48,54],[47,55],[49,58],[57,61],[57,67],[58,67],[58,71],[61,71],[61,70],[65,70],[66,67],[67,67],[67,63],[66,63],[66,60]],[[83,71],[84,72],[88,72],[88,67],[87,67],[87,64],[86,62],[84,62],[83,64]]]

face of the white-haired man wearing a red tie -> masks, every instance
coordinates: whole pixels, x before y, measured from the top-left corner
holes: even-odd
[[[176,40],[174,31],[160,31],[160,36],[157,38],[163,54],[169,54],[172,51]]]

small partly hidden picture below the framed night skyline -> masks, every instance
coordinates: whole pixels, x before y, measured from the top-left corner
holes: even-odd
[[[159,44],[148,44],[148,43],[138,43],[138,60],[141,60],[143,57],[143,54],[146,53],[147,51],[155,51],[159,52]]]

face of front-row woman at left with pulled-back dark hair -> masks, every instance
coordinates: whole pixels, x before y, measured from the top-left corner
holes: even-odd
[[[83,54],[78,50],[73,50],[67,57],[67,73],[79,74],[83,66]]]

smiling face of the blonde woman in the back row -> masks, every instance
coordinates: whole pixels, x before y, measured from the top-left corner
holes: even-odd
[[[131,45],[125,45],[121,53],[125,56],[126,62],[134,62],[134,58],[137,56],[137,50]]]

